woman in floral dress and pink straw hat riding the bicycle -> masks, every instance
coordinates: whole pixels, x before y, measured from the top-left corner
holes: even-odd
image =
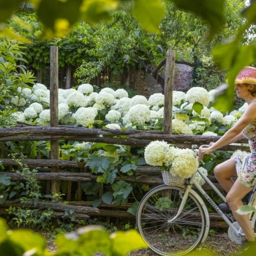
[[[245,67],[235,80],[238,98],[244,99],[248,108],[238,122],[229,129],[216,143],[210,143],[208,148],[200,148],[198,157],[221,148],[245,137],[249,140],[251,154],[244,159],[239,156],[231,158],[214,169],[219,184],[227,192],[227,204],[233,216],[244,231],[247,241],[255,241],[255,232],[249,222],[248,215],[240,215],[236,210],[243,206],[242,198],[256,187],[256,68]],[[234,182],[232,177],[238,178]]]

